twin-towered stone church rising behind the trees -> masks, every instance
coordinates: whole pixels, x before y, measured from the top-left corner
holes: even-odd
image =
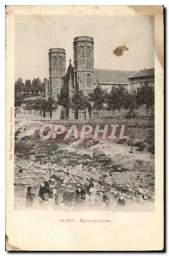
[[[49,80],[45,88],[45,98],[57,95],[63,86],[69,90],[70,97],[76,90],[88,94],[99,84],[109,92],[112,86],[121,85],[129,88],[128,77],[136,71],[94,69],[94,40],[90,36],[78,36],[73,41],[73,66],[70,59],[66,71],[66,51],[61,48],[49,49]],[[53,119],[60,118],[61,107],[52,113]],[[93,111],[92,118],[97,118],[98,113]],[[70,110],[69,119],[74,119],[74,113]],[[78,117],[79,118],[79,117]],[[81,119],[89,119],[88,111],[80,114]]]

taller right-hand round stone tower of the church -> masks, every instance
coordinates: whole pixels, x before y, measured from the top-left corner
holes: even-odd
[[[74,82],[76,90],[87,94],[94,89],[94,42],[89,36],[78,36],[73,42]]]

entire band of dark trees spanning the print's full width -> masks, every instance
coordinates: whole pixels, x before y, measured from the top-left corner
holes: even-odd
[[[154,105],[154,86],[145,82],[143,86],[140,86],[138,93],[129,93],[126,87],[112,86],[110,92],[106,92],[99,85],[89,93],[85,95],[82,91],[75,91],[74,95],[70,98],[69,90],[67,87],[61,88],[60,94],[58,94],[57,101],[49,97],[48,100],[45,96],[45,85],[47,79],[44,78],[41,81],[39,78],[35,78],[32,81],[30,79],[23,80],[17,79],[15,82],[15,106],[21,105],[21,100],[31,96],[41,96],[35,103],[30,101],[25,105],[26,110],[39,110],[41,115],[45,117],[45,112],[50,113],[52,117],[52,111],[56,110],[61,105],[65,113],[61,118],[69,118],[69,109],[72,109],[75,113],[75,119],[80,118],[81,111],[88,109],[90,118],[92,110],[108,110],[114,113],[115,110],[119,110],[119,117],[121,118],[121,110],[128,110],[126,118],[132,118],[134,111],[140,106],[145,105],[148,109]],[[79,113],[79,116],[78,116]]]

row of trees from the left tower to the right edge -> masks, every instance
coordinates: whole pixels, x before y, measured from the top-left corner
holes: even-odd
[[[126,118],[132,118],[134,111],[142,105],[146,106],[148,118],[148,109],[154,106],[154,86],[145,82],[143,86],[140,86],[138,93],[136,91],[129,93],[126,87],[120,85],[112,86],[110,92],[106,92],[98,85],[88,95],[82,91],[76,91],[71,99],[69,91],[62,88],[61,93],[58,94],[58,103],[63,106],[66,113],[72,109],[75,119],[78,119],[78,112],[80,115],[81,111],[86,109],[89,110],[90,117],[92,110],[111,110],[112,113],[119,110],[120,118],[121,110],[125,109],[128,110]]]

